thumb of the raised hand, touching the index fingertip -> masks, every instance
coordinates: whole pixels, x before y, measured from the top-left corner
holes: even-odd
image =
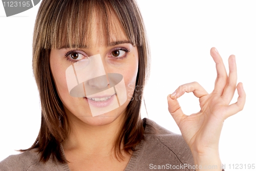
[[[173,116],[175,122],[179,125],[181,119],[186,115],[182,112],[180,104],[175,95],[176,91],[173,94],[167,96],[168,110],[169,113]]]

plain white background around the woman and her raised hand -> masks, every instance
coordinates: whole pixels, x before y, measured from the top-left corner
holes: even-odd
[[[226,170],[233,170],[228,164],[256,165],[254,1],[138,0],[138,4],[152,52],[151,76],[144,91],[147,114],[142,108],[142,117],[179,133],[167,110],[167,95],[192,81],[210,93],[216,78],[210,48],[218,49],[227,71],[228,57],[234,54],[238,81],[243,82],[247,97],[244,110],[225,120],[220,156]],[[38,7],[6,17],[0,4],[0,161],[17,154],[15,149],[30,147],[39,131],[40,103],[31,67]],[[232,102],[237,97],[236,92]],[[185,114],[200,110],[193,94],[184,94],[179,102]]]

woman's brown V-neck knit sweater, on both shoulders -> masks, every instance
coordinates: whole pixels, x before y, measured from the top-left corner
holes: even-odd
[[[156,128],[153,134],[150,126]],[[146,134],[150,133],[150,134]],[[150,119],[146,119],[145,140],[141,141],[133,153],[125,171],[131,170],[195,170],[189,147],[181,135],[174,134]],[[0,162],[0,171],[51,170],[70,171],[68,164],[54,163],[50,159],[46,164],[38,162],[35,150],[12,155]]]

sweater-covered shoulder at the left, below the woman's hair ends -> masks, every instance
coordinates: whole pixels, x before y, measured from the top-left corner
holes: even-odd
[[[61,164],[54,163],[51,159],[46,163],[39,162],[38,152],[35,149],[11,155],[0,162],[0,171],[15,170],[65,170],[61,168]]]

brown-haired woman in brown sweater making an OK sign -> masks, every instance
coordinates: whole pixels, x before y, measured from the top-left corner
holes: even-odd
[[[41,129],[30,149],[2,161],[0,169],[148,170],[175,166],[207,170],[199,166],[216,165],[211,170],[221,170],[218,143],[222,124],[243,109],[245,92],[239,83],[238,102],[229,105],[237,83],[234,56],[229,57],[229,76],[215,48],[211,56],[218,73],[211,94],[193,82],[168,96],[169,112],[182,138],[151,120],[140,119],[141,100],[136,97],[142,92],[135,90],[144,86],[147,77],[148,47],[134,1],[42,1],[33,38]],[[94,60],[91,72],[84,71],[86,67],[76,68]],[[74,77],[69,68],[74,69]],[[111,73],[124,80],[121,94],[125,92],[126,99],[122,103],[123,96],[114,89],[121,81]],[[71,92],[79,94],[80,89],[74,88],[82,82],[84,96],[76,97]],[[114,94],[108,92],[111,88]],[[184,92],[200,98],[200,112],[182,113],[177,98]],[[13,161],[18,162],[13,165]]]

